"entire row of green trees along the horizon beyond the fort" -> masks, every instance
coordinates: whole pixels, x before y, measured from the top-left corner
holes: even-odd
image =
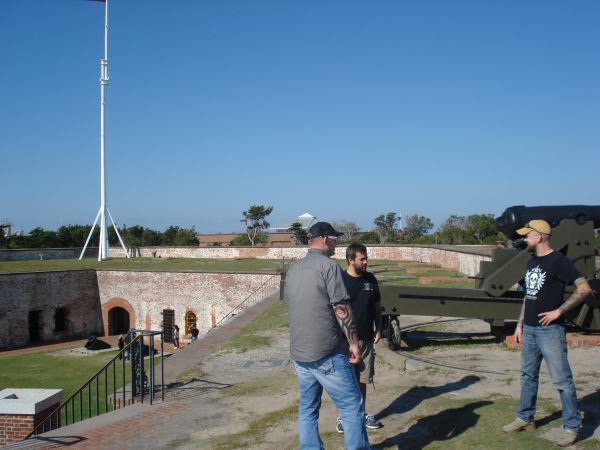
[[[273,212],[272,206],[250,205],[242,212],[241,222],[246,226],[245,233],[231,241],[230,245],[255,246],[267,241],[270,227],[267,217]],[[402,226],[400,226],[402,224]],[[373,219],[373,227],[361,230],[356,222],[341,220],[332,222],[334,228],[343,233],[342,242],[362,242],[364,244],[494,244],[506,237],[498,231],[491,214],[469,216],[451,215],[433,233],[433,222],[419,214],[401,218],[395,212],[380,214]],[[307,230],[298,222],[289,230],[297,245],[308,243]],[[89,225],[65,225],[56,231],[37,227],[27,235],[4,236],[0,233],[0,248],[69,248],[83,247],[90,232]],[[149,246],[197,246],[196,230],[170,226],[164,232],[140,225],[123,226],[119,233],[128,247]],[[100,230],[96,227],[91,242],[98,242]],[[118,245],[115,230],[108,229],[110,245]]]

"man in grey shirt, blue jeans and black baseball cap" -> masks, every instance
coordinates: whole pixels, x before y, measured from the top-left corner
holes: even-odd
[[[288,303],[290,354],[300,390],[300,448],[324,448],[319,435],[319,409],[325,389],[340,411],[345,448],[370,449],[364,404],[351,366],[360,362],[360,351],[350,296],[341,267],[330,259],[342,233],[327,222],[317,222],[308,234],[310,248],[288,271],[284,296]],[[349,355],[342,333],[350,344]]]

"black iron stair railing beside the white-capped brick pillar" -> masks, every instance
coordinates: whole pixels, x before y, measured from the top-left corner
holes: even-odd
[[[31,432],[29,437],[46,431],[81,422],[119,408],[144,402],[150,404],[160,388],[164,391],[164,348],[162,331],[129,330],[131,342],[119,351],[104,367],[96,372],[73,395],[50,412]],[[160,361],[155,361],[155,337],[160,337]],[[149,367],[144,368],[147,341]],[[160,362],[160,378],[156,380],[155,364]],[[158,386],[157,386],[158,381]]]

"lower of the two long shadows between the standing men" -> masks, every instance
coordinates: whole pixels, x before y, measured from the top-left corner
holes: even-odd
[[[480,415],[475,411],[491,405],[491,401],[469,403],[460,408],[451,408],[433,416],[417,420],[404,433],[373,444],[373,448],[385,448],[402,444],[403,449],[422,449],[433,442],[453,439],[477,425]]]

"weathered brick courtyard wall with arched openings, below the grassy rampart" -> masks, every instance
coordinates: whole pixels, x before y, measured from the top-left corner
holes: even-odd
[[[192,312],[207,331],[265,281],[278,275],[190,272],[65,271],[0,274],[0,348],[30,343],[30,312],[39,311],[39,338],[53,342],[108,333],[114,307],[129,326],[160,330],[164,309],[175,310],[185,329]],[[55,330],[57,308],[67,311],[66,329]]]

